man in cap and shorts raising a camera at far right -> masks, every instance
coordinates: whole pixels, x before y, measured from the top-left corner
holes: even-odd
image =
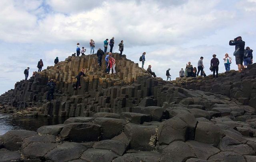
[[[244,70],[244,65],[243,65],[243,61],[244,61],[244,45],[245,42],[242,40],[241,36],[236,37],[234,40],[230,40],[229,41],[229,45],[230,46],[236,46],[235,50],[238,50],[239,54],[236,55],[236,64],[238,66],[238,72],[241,73],[242,70]]]

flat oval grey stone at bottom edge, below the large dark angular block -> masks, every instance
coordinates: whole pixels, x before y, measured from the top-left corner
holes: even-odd
[[[65,142],[48,152],[46,160],[65,162],[78,159],[87,148],[76,142]]]

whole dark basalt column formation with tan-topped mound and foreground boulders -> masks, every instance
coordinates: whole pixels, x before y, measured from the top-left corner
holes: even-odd
[[[67,116],[64,124],[0,136],[2,161],[255,162],[256,65],[218,79],[152,78],[114,54],[117,74],[97,67],[95,55],[69,57],[0,96],[1,111]],[[105,65],[102,60],[102,65]],[[86,69],[82,88],[75,76]],[[46,83],[55,98],[45,100]],[[255,91],[255,92],[254,92]]]

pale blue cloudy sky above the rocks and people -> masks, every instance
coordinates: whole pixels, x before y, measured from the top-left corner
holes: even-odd
[[[224,72],[222,58],[234,52],[229,40],[242,36],[255,49],[255,29],[256,0],[0,0],[0,94],[24,79],[26,67],[32,76],[40,59],[44,69],[56,56],[71,56],[77,42],[89,54],[90,39],[96,52],[113,36],[113,52],[124,40],[123,54],[140,67],[146,52],[144,68],[151,64],[164,80],[168,68],[175,80],[201,56],[211,74],[213,54]],[[231,69],[237,70],[235,59]]]

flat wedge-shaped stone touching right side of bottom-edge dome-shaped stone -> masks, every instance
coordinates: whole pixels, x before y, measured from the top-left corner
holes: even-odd
[[[194,152],[197,158],[207,160],[210,156],[220,152],[218,148],[211,146],[210,144],[205,144],[197,141],[187,141],[186,144],[190,146],[191,150]]]

